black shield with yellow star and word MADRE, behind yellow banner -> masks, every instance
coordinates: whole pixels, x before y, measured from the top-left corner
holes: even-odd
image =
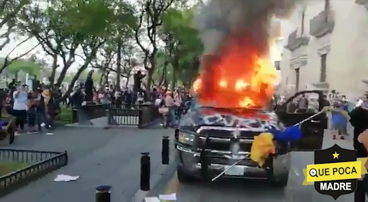
[[[338,158],[335,158],[333,154],[339,154]],[[314,151],[314,163],[315,164],[322,164],[322,163],[339,163],[339,162],[348,162],[348,161],[356,161],[357,153],[355,150],[349,150],[349,149],[343,149],[338,145],[334,145],[328,149],[324,150],[316,150]],[[324,183],[332,183],[334,182],[340,183],[340,182],[350,182],[351,183],[351,190],[324,190],[322,189],[322,184]],[[320,181],[315,182],[314,187],[316,190],[324,195],[330,195],[335,200],[340,195],[345,195],[352,193],[356,190],[357,186],[357,179],[345,179],[345,180],[334,180],[334,181]]]

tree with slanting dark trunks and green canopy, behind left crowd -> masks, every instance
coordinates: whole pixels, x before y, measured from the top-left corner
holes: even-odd
[[[78,51],[83,52],[86,61],[72,81],[77,80],[79,72],[83,72],[95,57],[108,33],[106,26],[111,15],[109,5],[100,0],[50,1],[46,6],[34,3],[25,7],[17,26],[20,32],[35,37],[43,50],[52,56],[52,83],[61,59],[60,75],[55,82],[60,86]]]

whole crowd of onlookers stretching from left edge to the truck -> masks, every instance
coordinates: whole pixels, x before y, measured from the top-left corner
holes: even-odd
[[[27,85],[13,80],[7,89],[0,90],[0,113],[3,115],[6,113],[15,119],[16,133],[52,134],[55,128],[54,121],[61,113],[62,105],[66,108],[79,108],[89,103],[106,105],[107,108],[134,108],[137,105],[153,104],[160,109],[167,109],[167,112],[163,113],[167,115],[167,124],[175,126],[178,121],[177,115],[189,98],[188,91],[182,87],[174,90],[153,87],[148,92],[134,87],[116,89],[111,85],[93,86],[91,100],[86,99],[88,95],[84,83],[75,86],[69,96],[62,99],[65,92],[63,86],[51,88],[50,85],[43,83],[40,83],[37,89],[31,90]],[[0,124],[5,125],[6,122]]]

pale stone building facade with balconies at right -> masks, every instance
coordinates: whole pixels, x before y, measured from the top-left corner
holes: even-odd
[[[368,90],[368,0],[325,0],[298,8],[285,37],[282,92]]]

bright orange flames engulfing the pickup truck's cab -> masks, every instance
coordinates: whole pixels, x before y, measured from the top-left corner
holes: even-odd
[[[217,108],[264,108],[277,81],[276,68],[252,38],[231,37],[214,55],[202,56],[193,83],[198,102]]]

